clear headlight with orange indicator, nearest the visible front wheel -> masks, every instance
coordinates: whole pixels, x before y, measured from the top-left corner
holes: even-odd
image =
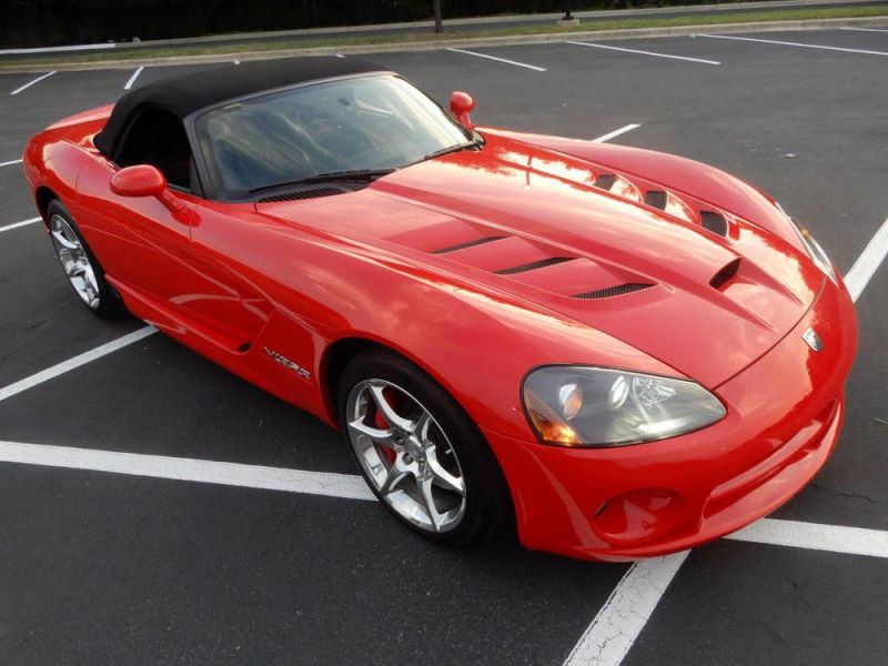
[[[696,382],[604,367],[549,365],[524,381],[539,438],[563,446],[617,446],[712,425],[724,405]]]

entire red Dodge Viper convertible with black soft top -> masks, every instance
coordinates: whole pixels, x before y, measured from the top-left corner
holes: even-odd
[[[61,120],[24,170],[87,307],[341,430],[434,542],[634,559],[798,493],[857,350],[816,241],[716,169],[473,107],[351,58],[225,65]]]

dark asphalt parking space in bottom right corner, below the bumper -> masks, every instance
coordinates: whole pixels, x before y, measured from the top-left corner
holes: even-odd
[[[886,576],[872,557],[713,544],[690,554],[624,664],[881,664]]]

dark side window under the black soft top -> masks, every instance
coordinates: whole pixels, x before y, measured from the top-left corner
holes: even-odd
[[[145,109],[127,128],[115,161],[121,167],[151,164],[171,185],[191,190],[191,157],[182,122],[168,111]]]

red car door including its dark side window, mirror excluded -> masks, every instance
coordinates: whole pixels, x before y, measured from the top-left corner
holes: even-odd
[[[111,282],[151,299],[155,309],[173,312],[192,329],[211,329],[225,346],[252,340],[266,319],[262,296],[231,273],[220,279],[220,264],[193,249],[195,211],[205,202],[182,122],[165,111],[143,111],[113,157],[79,175],[80,191],[98,203],[90,206],[89,241]],[[111,175],[134,164],[158,168],[172,199],[112,192]]]

